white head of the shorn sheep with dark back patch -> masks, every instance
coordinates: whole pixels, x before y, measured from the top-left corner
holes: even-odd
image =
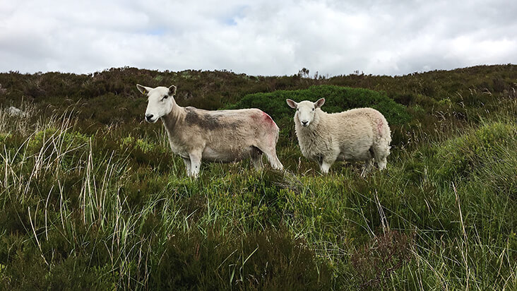
[[[172,111],[174,107],[174,94],[176,94],[176,86],[149,88],[143,85],[136,85],[136,88],[147,95],[147,109],[145,110],[145,121],[155,123]]]

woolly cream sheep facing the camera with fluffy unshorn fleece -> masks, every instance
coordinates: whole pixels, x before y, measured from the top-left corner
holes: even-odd
[[[295,102],[295,131],[305,158],[316,160],[327,174],[336,160],[364,161],[364,177],[372,170],[373,160],[379,170],[386,168],[390,154],[391,132],[381,112],[372,108],[356,108],[328,114],[321,110],[325,98],[316,102]]]

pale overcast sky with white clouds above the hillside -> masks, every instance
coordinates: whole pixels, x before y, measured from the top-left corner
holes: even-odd
[[[0,2],[0,72],[400,76],[517,63],[517,1]]]

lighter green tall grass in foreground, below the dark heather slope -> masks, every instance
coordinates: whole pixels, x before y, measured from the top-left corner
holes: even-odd
[[[517,288],[515,100],[415,126],[365,179],[321,176],[290,141],[285,172],[203,164],[194,181],[161,126],[92,132],[23,104],[0,114],[2,289]]]

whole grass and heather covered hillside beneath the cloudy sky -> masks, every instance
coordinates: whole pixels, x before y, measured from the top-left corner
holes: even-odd
[[[258,107],[287,171],[186,177],[136,83],[179,105]],[[517,66],[407,76],[109,69],[0,73],[0,286],[27,289],[514,290]],[[374,107],[384,172],[299,152],[285,98]],[[17,107],[25,116],[8,113]]]

